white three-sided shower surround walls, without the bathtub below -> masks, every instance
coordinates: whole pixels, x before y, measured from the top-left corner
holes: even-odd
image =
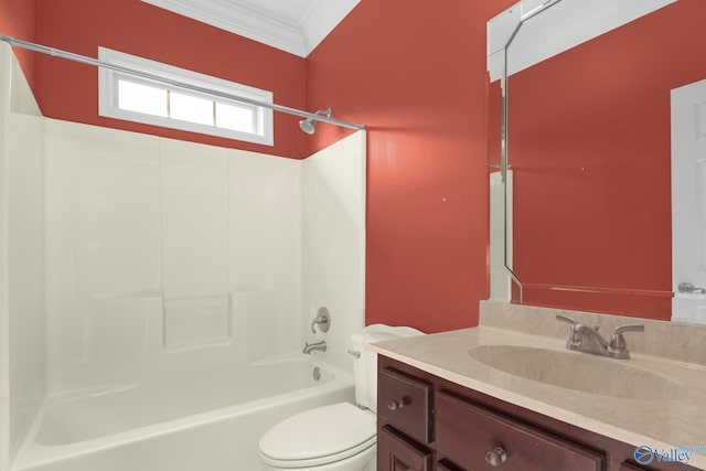
[[[0,46],[2,64],[14,61]],[[31,442],[42,402],[67,392],[247,365],[321,339],[329,351],[315,355],[350,373],[347,338],[364,324],[364,132],[282,159],[26,116],[29,87],[0,75],[11,137],[0,176],[18,154],[34,162],[13,170],[19,196],[0,195],[0,229],[15,231],[22,255],[0,293],[17,272],[40,275],[0,306],[0,471]],[[38,223],[29,234],[13,211]],[[312,334],[320,306],[332,329]]]

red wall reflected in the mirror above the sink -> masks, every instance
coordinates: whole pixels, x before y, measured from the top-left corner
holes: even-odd
[[[510,78],[525,302],[670,319],[670,89],[706,77],[704,18],[681,0]]]

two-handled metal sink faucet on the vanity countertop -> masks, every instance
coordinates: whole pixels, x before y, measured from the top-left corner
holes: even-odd
[[[598,325],[581,324],[561,314],[557,314],[556,320],[570,324],[569,339],[566,341],[567,349],[610,356],[611,358],[627,360],[630,357],[625,339],[622,336],[623,332],[644,332],[643,324],[619,325],[608,342],[598,333]]]

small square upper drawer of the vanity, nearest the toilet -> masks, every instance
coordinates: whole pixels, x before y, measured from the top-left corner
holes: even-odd
[[[392,368],[377,381],[377,415],[395,428],[425,443],[432,441],[432,386]]]

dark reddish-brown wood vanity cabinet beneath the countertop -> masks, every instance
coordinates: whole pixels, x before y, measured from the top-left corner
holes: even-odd
[[[689,471],[378,355],[378,471]],[[702,470],[705,471],[705,470]]]

